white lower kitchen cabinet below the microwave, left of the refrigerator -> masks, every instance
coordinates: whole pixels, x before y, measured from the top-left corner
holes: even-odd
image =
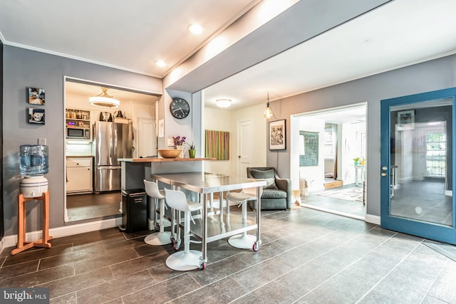
[[[66,158],[66,193],[92,193],[92,157]]]

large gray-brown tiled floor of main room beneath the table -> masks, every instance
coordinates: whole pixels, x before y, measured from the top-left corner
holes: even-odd
[[[48,287],[51,303],[456,303],[455,261],[335,214],[264,211],[260,250],[209,243],[204,271],[171,271],[172,248],[145,244],[148,232],[106,229],[16,256],[6,248],[0,286]]]

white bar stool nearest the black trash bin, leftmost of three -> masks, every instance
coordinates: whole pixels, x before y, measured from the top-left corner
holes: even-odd
[[[145,193],[153,199],[154,204],[154,226],[157,227],[157,201],[160,200],[159,232],[149,234],[144,241],[149,245],[166,245],[171,243],[171,233],[165,231],[165,192],[158,189],[156,182],[144,179]]]

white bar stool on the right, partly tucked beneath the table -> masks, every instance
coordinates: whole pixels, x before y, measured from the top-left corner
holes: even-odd
[[[242,189],[242,192],[229,192],[227,194],[227,206],[229,201],[234,201],[237,204],[242,204],[242,221],[247,222],[247,201],[257,200],[257,188]],[[229,245],[239,249],[252,249],[257,241],[257,236],[252,236],[244,231],[242,234],[237,234],[228,239]]]

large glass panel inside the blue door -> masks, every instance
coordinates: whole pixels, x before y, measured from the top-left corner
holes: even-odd
[[[452,226],[452,99],[390,108],[390,215]]]

